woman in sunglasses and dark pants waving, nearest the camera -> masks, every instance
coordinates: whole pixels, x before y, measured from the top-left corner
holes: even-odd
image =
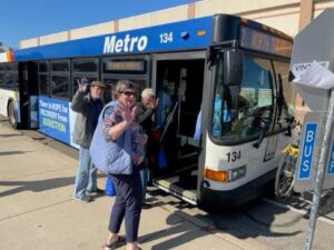
[[[109,173],[116,190],[110,221],[109,236],[105,250],[112,250],[126,243],[126,250],[138,250],[138,230],[141,213],[141,181],[139,166],[145,159],[147,136],[141,133],[136,121],[137,107],[135,106],[135,84],[128,80],[120,80],[115,88],[115,100],[109,102],[102,111],[102,134],[106,141],[121,141],[121,151],[129,154],[130,164],[124,173]],[[114,152],[110,152],[110,162],[117,166]],[[114,158],[114,160],[111,160]],[[120,164],[125,162],[119,162]],[[126,239],[120,237],[120,226],[125,220]]]

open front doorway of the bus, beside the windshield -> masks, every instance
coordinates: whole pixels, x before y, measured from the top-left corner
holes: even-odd
[[[191,203],[197,190],[196,123],[200,123],[204,69],[204,52],[154,56],[153,84],[159,98],[153,131],[156,147],[150,152],[154,183]]]

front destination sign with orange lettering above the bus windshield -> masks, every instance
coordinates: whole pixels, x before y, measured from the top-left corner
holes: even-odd
[[[240,47],[271,54],[291,57],[293,41],[266,31],[242,26]]]

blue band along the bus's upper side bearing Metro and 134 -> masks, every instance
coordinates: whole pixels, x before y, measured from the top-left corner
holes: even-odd
[[[91,57],[204,48],[210,42],[212,20],[213,17],[205,17],[21,49],[14,51],[14,60],[24,61],[48,58]],[[199,31],[205,34],[198,36]]]

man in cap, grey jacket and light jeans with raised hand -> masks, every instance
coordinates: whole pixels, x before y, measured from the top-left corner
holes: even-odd
[[[89,146],[104,108],[101,97],[106,86],[100,81],[92,81],[90,87],[86,78],[78,82],[78,90],[72,99],[71,109],[77,112],[73,142],[79,144],[79,166],[76,173],[73,198],[90,202],[92,194],[102,194],[97,187],[97,168],[89,154]],[[89,88],[89,92],[87,90]]]

